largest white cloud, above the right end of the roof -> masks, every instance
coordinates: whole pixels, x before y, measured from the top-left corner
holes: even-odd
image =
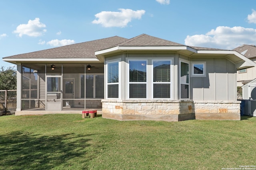
[[[187,35],[185,45],[234,49],[242,44],[256,45],[256,29],[219,26],[206,34]]]

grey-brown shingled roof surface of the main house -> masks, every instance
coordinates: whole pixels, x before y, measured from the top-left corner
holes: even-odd
[[[72,59],[72,58],[97,58],[95,51],[109,49],[117,46],[130,46],[130,47],[156,47],[156,46],[186,46],[180,43],[175,43],[165,39],[153,37],[147,34],[141,34],[131,39],[123,37],[109,37],[104,39],[98,39],[94,41],[87,41],[84,43],[77,43],[72,45],[66,45],[62,47],[56,47],[52,49],[46,49],[41,51],[35,51],[31,53],[13,55],[10,57],[4,57],[3,59]],[[204,47],[192,47],[196,50],[220,50]],[[256,51],[255,51],[256,52]]]

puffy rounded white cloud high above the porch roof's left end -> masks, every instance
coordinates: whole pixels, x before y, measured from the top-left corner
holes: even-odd
[[[19,34],[19,37],[22,37],[22,35],[38,37],[46,32],[46,29],[44,29],[45,27],[46,25],[41,23],[39,18],[36,18],[35,20],[29,20],[27,24],[18,25],[13,32]]]

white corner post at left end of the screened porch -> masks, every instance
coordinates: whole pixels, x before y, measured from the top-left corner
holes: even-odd
[[[22,87],[22,66],[17,63],[17,106],[16,111],[21,111],[21,87]]]

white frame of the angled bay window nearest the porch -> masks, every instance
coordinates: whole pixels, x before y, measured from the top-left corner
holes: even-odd
[[[108,64],[110,63],[116,63],[118,62],[118,82],[116,83],[108,83]],[[105,71],[105,84],[106,84],[106,89],[105,89],[105,94],[106,94],[106,99],[120,99],[122,96],[122,79],[121,79],[121,74],[122,74],[122,64],[121,64],[121,60],[120,59],[115,59],[115,60],[109,60],[106,61],[106,71]],[[114,84],[118,84],[118,98],[108,98],[108,85],[114,85]]]

